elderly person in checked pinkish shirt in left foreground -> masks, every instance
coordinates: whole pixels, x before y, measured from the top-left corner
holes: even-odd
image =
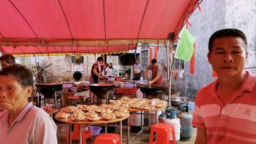
[[[57,127],[41,108],[28,103],[31,70],[14,64],[0,71],[0,143],[57,144]]]

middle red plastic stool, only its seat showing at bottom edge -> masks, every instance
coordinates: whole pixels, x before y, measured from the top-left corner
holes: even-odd
[[[121,144],[119,134],[100,134],[95,140],[94,144]]]

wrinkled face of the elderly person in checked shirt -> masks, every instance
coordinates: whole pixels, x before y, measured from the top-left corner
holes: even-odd
[[[18,80],[13,76],[0,76],[0,109],[15,110],[28,102],[28,96],[32,93],[32,86],[22,88]]]

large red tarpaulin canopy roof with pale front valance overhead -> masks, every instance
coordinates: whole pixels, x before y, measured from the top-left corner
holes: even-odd
[[[2,0],[5,54],[109,53],[166,44],[198,0]],[[79,46],[79,47],[78,47]]]

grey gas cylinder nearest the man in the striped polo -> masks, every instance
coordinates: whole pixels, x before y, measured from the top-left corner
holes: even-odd
[[[180,114],[177,116],[180,119],[180,140],[190,140],[193,135],[192,118],[189,113],[188,106],[180,106]]]

